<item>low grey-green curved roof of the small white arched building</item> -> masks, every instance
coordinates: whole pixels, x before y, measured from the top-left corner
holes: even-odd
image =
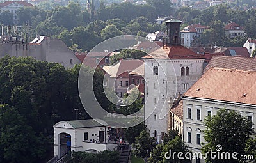
[[[103,127],[103,126],[107,126],[108,124],[103,121],[103,120],[99,120],[96,119],[97,121],[93,120],[93,119],[88,119],[88,120],[74,120],[74,121],[60,121],[59,123],[69,123],[70,125],[72,125],[72,127],[74,128],[92,128],[92,127]],[[100,121],[100,123],[98,122]],[[57,125],[56,124],[56,125]],[[103,125],[102,125],[103,124]],[[56,126],[54,125],[54,126]]]

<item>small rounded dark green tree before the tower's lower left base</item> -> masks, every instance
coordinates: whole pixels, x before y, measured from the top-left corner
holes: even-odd
[[[140,133],[140,136],[136,137],[134,144],[136,156],[147,159],[155,146],[156,139],[154,137],[150,137],[147,130],[143,130]]]

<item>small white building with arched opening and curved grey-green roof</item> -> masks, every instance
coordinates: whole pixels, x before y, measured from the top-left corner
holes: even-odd
[[[98,123],[105,124],[102,125]],[[54,127],[54,156],[58,159],[70,151],[87,151],[97,153],[113,150],[119,144],[109,140],[111,130],[102,120],[60,121]],[[68,149],[67,143],[71,146]]]

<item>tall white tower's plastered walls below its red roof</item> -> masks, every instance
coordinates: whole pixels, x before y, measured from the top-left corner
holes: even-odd
[[[203,61],[145,59],[145,125],[152,137],[156,130],[157,141],[161,141],[161,132],[166,133],[168,130],[170,105],[167,101],[177,98],[179,92],[183,94],[201,77]],[[154,66],[159,66],[158,75],[153,74]],[[188,76],[181,76],[181,67],[189,67]],[[184,84],[186,89],[183,89]]]

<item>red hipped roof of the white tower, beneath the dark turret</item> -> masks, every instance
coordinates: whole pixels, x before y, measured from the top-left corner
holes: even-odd
[[[196,54],[192,50],[181,45],[170,46],[164,45],[163,48],[157,49],[154,52],[144,56],[143,58],[155,59],[204,59],[202,54]]]

